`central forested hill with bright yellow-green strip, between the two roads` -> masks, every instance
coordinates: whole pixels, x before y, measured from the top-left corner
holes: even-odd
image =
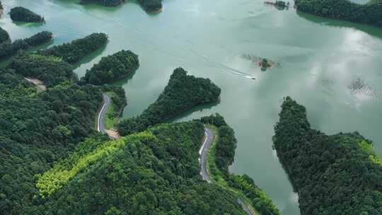
[[[203,182],[200,122],[162,124],[120,140],[88,140],[38,181],[62,187],[34,214],[245,214],[235,195]]]

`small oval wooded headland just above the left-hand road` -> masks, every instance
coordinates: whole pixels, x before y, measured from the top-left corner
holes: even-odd
[[[138,55],[129,50],[122,50],[100,59],[98,64],[94,64],[91,69],[86,71],[81,82],[94,85],[110,83],[132,74],[138,67]]]

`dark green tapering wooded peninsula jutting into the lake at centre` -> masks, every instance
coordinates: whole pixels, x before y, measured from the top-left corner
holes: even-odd
[[[182,68],[175,69],[156,102],[141,115],[122,121],[118,125],[118,132],[123,136],[141,132],[196,105],[217,102],[220,92],[221,89],[209,79],[187,75]]]

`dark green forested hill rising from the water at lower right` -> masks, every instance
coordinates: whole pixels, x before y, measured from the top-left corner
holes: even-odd
[[[382,161],[358,132],[311,129],[306,108],[287,97],[274,147],[299,192],[302,215],[382,214]]]

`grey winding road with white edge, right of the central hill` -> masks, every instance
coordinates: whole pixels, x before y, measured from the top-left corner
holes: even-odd
[[[199,150],[200,174],[202,175],[203,180],[205,180],[209,183],[212,183],[211,177],[209,176],[208,171],[207,171],[207,155],[208,155],[209,148],[211,148],[212,143],[214,141],[215,133],[214,133],[214,131],[212,131],[212,129],[208,129],[208,128],[204,127],[204,135],[205,135],[206,139],[204,139],[202,147]],[[256,215],[248,207],[248,205],[243,202],[242,199],[238,198],[238,204],[240,204],[241,207],[243,207],[243,210],[245,212],[247,212],[248,215]]]

